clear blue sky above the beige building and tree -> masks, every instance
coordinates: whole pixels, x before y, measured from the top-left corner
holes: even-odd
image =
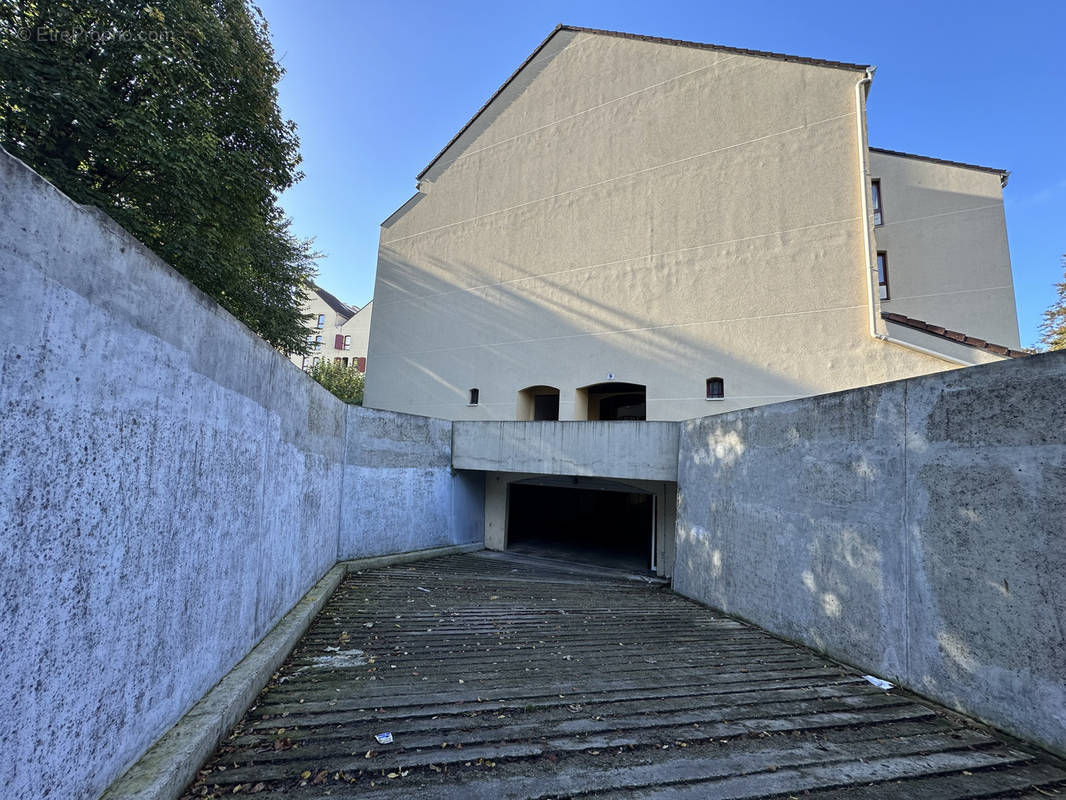
[[[371,299],[381,222],[555,25],[876,64],[870,143],[1011,171],[1021,342],[1063,278],[1066,3],[260,0],[287,70],[304,180],[282,196],[326,254],[319,281]]]

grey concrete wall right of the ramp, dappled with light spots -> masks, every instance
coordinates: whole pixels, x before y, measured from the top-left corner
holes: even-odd
[[[684,423],[675,588],[1066,753],[1066,353]]]

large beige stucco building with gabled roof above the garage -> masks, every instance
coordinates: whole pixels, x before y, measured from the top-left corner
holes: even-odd
[[[870,148],[872,77],[558,28],[382,225],[366,404],[685,419],[1020,355],[1006,174]]]

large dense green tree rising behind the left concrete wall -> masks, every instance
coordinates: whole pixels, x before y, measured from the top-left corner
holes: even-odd
[[[316,254],[278,206],[303,177],[281,75],[246,0],[0,0],[0,144],[303,353]]]

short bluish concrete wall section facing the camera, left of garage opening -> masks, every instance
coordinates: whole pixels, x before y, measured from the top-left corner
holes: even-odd
[[[341,559],[484,541],[484,476],[452,469],[452,423],[349,409]]]

